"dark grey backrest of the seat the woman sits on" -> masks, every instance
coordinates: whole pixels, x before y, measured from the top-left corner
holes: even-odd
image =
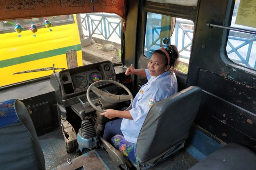
[[[153,165],[187,138],[201,98],[202,89],[190,86],[151,107],[137,140],[139,164]]]

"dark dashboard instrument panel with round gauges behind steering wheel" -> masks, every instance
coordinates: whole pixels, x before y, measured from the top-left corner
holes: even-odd
[[[86,94],[87,88],[99,80],[116,80],[115,70],[110,61],[75,67],[57,72],[56,79],[60,87],[62,99]],[[96,87],[108,83],[97,84]]]

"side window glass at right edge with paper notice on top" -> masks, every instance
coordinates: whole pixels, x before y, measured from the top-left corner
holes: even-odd
[[[237,24],[237,18],[243,14],[239,11],[240,2],[237,0],[234,5],[231,27],[256,31],[256,28]],[[245,2],[245,1],[244,1]],[[246,5],[242,5],[246,7]],[[255,7],[254,7],[255,9]],[[240,12],[240,13],[238,13]],[[244,19],[246,20],[246,19]],[[238,31],[229,31],[227,42],[228,58],[239,65],[256,70],[256,35]]]

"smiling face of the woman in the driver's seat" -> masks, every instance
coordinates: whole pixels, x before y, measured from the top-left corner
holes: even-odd
[[[157,77],[158,75],[161,75],[165,71],[169,70],[170,66],[165,66],[164,57],[165,56],[159,53],[154,53],[152,55],[150,61],[147,64],[147,68],[151,76]]]

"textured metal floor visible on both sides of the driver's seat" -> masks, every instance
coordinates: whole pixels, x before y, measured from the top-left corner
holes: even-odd
[[[39,142],[44,153],[46,170],[53,169],[66,163],[67,158],[73,159],[79,156],[75,151],[71,153],[66,152],[66,143],[61,130],[40,136]],[[187,170],[196,163],[198,163],[197,159],[187,153],[185,149],[181,149],[176,154],[173,154],[150,169]]]

